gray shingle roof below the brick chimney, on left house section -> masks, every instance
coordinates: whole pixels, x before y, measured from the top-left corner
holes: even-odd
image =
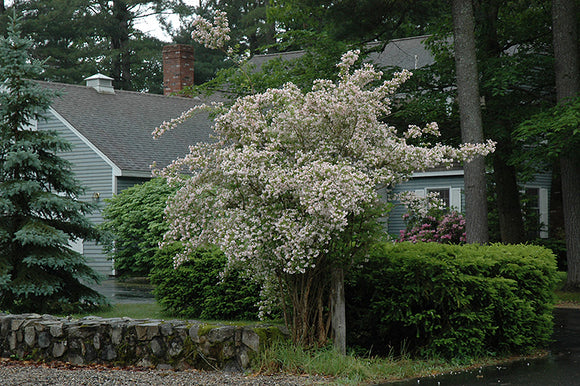
[[[52,108],[123,172],[149,172],[184,156],[188,146],[210,140],[211,121],[199,114],[154,140],[151,132],[201,101],[115,90],[100,94],[85,86],[38,82],[61,95]]]

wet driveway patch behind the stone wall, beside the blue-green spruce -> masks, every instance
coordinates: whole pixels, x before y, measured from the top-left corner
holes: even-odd
[[[109,299],[111,304],[155,303],[153,286],[147,279],[119,280],[108,278],[91,288]]]

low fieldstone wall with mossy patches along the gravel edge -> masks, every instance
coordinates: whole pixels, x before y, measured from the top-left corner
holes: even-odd
[[[77,365],[235,371],[284,336],[287,331],[275,326],[0,313],[1,356]]]

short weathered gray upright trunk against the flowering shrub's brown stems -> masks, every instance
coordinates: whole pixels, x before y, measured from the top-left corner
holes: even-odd
[[[344,300],[344,270],[332,268],[330,307],[332,313],[332,339],[334,348],[346,354],[346,311]]]

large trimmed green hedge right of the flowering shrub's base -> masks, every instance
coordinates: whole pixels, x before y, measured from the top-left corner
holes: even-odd
[[[552,333],[556,263],[529,245],[378,245],[349,276],[349,343],[378,353],[525,353]]]

